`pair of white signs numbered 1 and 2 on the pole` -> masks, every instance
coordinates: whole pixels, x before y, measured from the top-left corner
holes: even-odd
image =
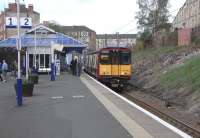
[[[21,17],[20,26],[21,28],[31,28],[32,18]],[[6,28],[17,28],[17,17],[6,17]]]

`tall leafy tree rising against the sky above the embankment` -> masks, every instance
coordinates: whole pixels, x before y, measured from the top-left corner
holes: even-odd
[[[169,0],[138,0],[138,28],[152,33],[165,28],[169,17],[168,3]]]

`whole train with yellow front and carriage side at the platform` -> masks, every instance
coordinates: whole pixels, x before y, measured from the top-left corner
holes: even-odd
[[[98,80],[121,89],[131,78],[131,51],[111,47],[89,53],[86,55],[85,70]]]

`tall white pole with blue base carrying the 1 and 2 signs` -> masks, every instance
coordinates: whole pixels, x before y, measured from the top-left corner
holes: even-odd
[[[17,105],[22,106],[22,79],[20,71],[20,51],[21,51],[21,38],[20,38],[20,5],[19,0],[16,0],[17,3],[17,51],[18,51],[18,73],[17,73]]]

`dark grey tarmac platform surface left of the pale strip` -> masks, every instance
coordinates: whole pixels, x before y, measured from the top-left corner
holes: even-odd
[[[51,82],[40,76],[22,107],[16,106],[14,80],[0,83],[0,138],[131,137],[78,77],[62,74]]]

